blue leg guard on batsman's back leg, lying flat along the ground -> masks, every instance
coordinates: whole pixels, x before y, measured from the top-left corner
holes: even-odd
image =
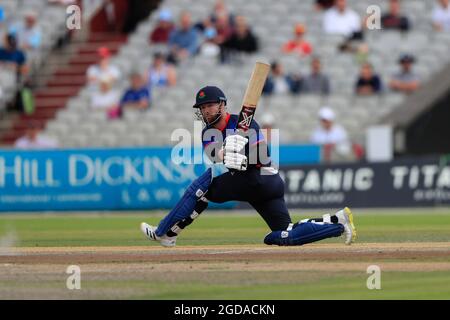
[[[344,232],[342,224],[298,223],[286,231],[273,231],[264,238],[265,244],[279,246],[301,246],[303,244],[339,237]]]

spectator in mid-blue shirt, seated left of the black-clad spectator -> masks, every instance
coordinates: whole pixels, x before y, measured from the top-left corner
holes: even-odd
[[[200,39],[196,28],[192,26],[191,15],[183,12],[180,15],[180,26],[169,36],[169,61],[177,64],[197,54]]]

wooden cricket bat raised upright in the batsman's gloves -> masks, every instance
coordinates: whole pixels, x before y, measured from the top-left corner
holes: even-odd
[[[255,67],[253,68],[252,76],[248,81],[247,89],[245,90],[244,100],[242,101],[242,109],[239,113],[239,118],[236,125],[236,129],[240,132],[246,132],[250,127],[269,71],[270,64],[256,62]]]

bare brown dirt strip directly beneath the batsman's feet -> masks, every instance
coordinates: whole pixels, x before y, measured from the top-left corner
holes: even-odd
[[[164,263],[183,261],[360,261],[450,260],[450,243],[313,244],[304,247],[262,245],[149,247],[12,248],[0,255],[0,264]]]

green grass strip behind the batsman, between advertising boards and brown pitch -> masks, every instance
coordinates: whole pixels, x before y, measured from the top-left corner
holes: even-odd
[[[358,242],[450,241],[450,209],[354,210],[354,215]],[[320,216],[314,211],[292,215],[292,220]],[[139,224],[157,224],[161,217],[161,212],[0,214],[0,237],[9,234],[15,246],[24,247],[147,246]],[[257,214],[209,211],[180,236],[178,244],[260,244],[268,231]]]

